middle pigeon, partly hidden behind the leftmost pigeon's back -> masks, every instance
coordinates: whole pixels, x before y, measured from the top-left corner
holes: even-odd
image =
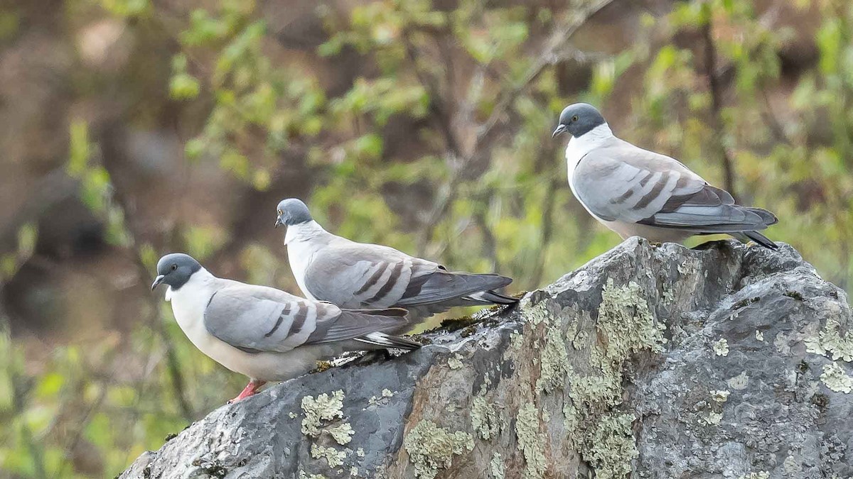
[[[341,308],[405,308],[408,326],[455,306],[519,301],[494,291],[513,281],[506,276],[450,272],[388,246],[328,233],[299,199],[281,200],[277,214],[276,227],[287,226],[290,268],[306,297]]]

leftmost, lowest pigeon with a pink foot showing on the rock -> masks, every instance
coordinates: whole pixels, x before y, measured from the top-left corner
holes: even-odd
[[[405,309],[340,309],[275,288],[224,280],[183,253],[160,258],[151,290],[160,284],[169,286],[165,300],[195,347],[250,378],[229,403],[345,351],[421,347],[386,334],[407,323]]]

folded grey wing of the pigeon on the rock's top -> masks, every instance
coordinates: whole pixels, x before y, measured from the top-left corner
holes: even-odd
[[[589,157],[589,158],[587,158]],[[607,221],[636,222],[696,233],[766,228],[775,216],[734,204],[675,159],[620,142],[584,157],[574,173],[578,198]]]

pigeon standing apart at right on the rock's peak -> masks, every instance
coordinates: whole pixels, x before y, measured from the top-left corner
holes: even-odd
[[[563,133],[572,135],[566,147],[572,193],[623,239],[681,242],[697,234],[724,233],[777,247],[758,233],[778,221],[773,213],[735,205],[731,194],[676,159],[618,139],[592,105],[566,107],[553,136]]]

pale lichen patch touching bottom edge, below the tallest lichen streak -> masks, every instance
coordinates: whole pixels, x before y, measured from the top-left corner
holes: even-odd
[[[631,472],[631,461],[640,456],[631,423],[633,414],[603,416],[590,438],[592,447],[584,454],[595,467],[595,479],[622,479]]]

